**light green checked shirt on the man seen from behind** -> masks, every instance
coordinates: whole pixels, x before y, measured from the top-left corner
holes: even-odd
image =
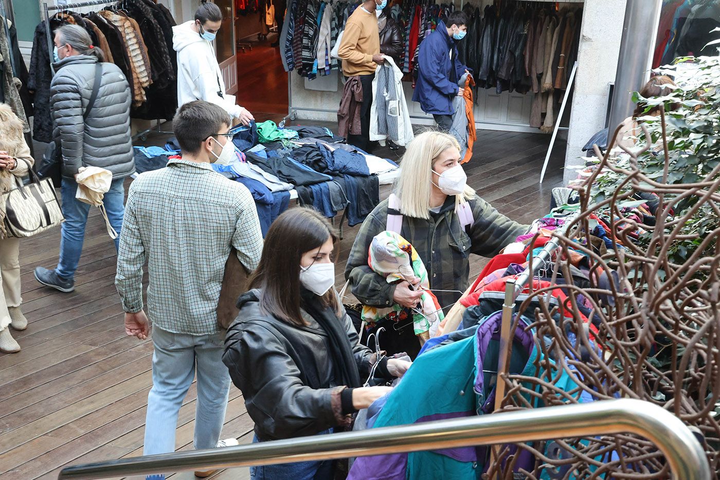
[[[217,328],[230,247],[255,270],[263,239],[248,189],[210,164],[171,159],[130,185],[120,235],[115,285],[122,308],[143,308],[143,264],[148,262],[148,316],[173,333],[213,334]]]

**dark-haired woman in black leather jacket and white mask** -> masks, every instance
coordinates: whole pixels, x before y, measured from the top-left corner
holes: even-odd
[[[324,435],[348,427],[351,414],[390,388],[362,387],[371,373],[390,380],[410,363],[363,345],[336,290],[338,236],[308,208],[280,215],[240,297],[222,361],[243,392],[255,442]],[[253,479],[332,479],[333,461],[253,467]]]

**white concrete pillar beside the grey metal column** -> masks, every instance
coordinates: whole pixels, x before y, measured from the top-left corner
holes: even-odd
[[[615,80],[627,0],[585,0],[570,114],[564,182],[577,178],[582,146],[605,126],[608,86]],[[657,28],[657,27],[656,27]]]

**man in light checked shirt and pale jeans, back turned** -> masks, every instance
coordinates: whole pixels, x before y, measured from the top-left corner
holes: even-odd
[[[173,157],[165,168],[132,182],[115,277],[127,334],[145,339],[148,316],[153,321],[145,455],[175,450],[178,413],[196,368],[194,446],[227,444],[218,442],[230,376],[222,364],[225,332],[217,325],[217,301],[231,247],[254,270],[263,244],[251,193],[210,166],[231,142],[228,114],[212,103],[189,102],[180,107],[173,126],[182,158]],[[148,316],[143,311],[145,262]]]

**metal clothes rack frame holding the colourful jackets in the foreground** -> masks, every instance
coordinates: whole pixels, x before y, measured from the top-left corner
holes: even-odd
[[[577,213],[569,215],[564,225],[559,228],[559,233],[567,236],[567,232],[571,226],[573,226],[576,218]],[[505,382],[501,381],[500,377],[503,373],[508,373],[508,353],[511,351],[510,349],[513,344],[510,326],[513,323],[515,301],[518,295],[525,290],[528,283],[535,277],[536,273],[544,270],[559,245],[559,239],[557,236],[553,236],[552,239],[545,244],[541,252],[533,257],[532,265],[528,265],[527,270],[521,273],[515,280],[508,280],[505,283],[505,302],[503,303],[503,316],[500,326],[500,354],[498,356],[498,375],[496,377],[498,380],[495,383],[495,411],[500,409],[503,404],[503,399],[505,398]]]

